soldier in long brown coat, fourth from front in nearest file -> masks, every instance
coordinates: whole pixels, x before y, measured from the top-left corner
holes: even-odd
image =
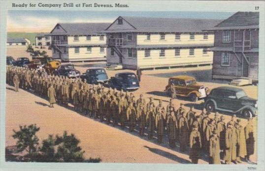
[[[156,128],[157,128],[157,141],[158,143],[162,143],[163,135],[164,135],[164,116],[162,114],[162,109],[159,108],[156,113]]]

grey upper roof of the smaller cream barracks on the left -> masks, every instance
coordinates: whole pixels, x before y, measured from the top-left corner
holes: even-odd
[[[110,23],[58,23],[66,31],[66,33],[59,33],[62,35],[88,35],[102,32]],[[56,26],[58,25],[56,24]],[[55,27],[56,27],[55,26]],[[53,31],[53,30],[52,30]],[[58,33],[51,33],[48,35],[55,35]]]

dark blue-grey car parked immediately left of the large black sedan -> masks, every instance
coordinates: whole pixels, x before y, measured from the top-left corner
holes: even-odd
[[[105,69],[100,67],[88,68],[86,73],[83,73],[80,77],[82,80],[86,79],[89,84],[104,84],[108,81]]]

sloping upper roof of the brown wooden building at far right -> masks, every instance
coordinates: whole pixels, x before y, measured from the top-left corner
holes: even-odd
[[[259,12],[237,12],[208,30],[259,28]]]

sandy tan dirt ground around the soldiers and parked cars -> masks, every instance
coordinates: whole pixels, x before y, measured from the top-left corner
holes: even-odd
[[[104,62],[73,63],[81,73],[85,72],[90,66],[105,66]],[[108,76],[122,71],[107,71]],[[131,71],[134,72],[134,71]],[[144,98],[162,99],[163,104],[168,104],[169,98],[165,93],[168,77],[179,74],[195,76],[199,83],[212,89],[218,86],[229,86],[227,81],[211,80],[211,66],[199,68],[179,68],[172,70],[143,71],[140,88],[133,92],[136,98],[140,94]],[[13,87],[7,86],[6,89],[6,146],[15,145],[12,138],[12,129],[18,129],[19,125],[36,123],[40,127],[37,136],[40,140],[47,138],[48,134],[63,134],[66,130],[74,133],[80,139],[80,146],[86,151],[85,157],[100,157],[102,162],[122,162],[122,163],[190,163],[189,151],[184,154],[179,152],[179,147],[170,149],[167,137],[166,143],[156,144],[156,140],[149,141],[146,137],[140,138],[138,134],[121,130],[119,127],[106,125],[105,123],[87,118],[82,114],[72,111],[71,108],[56,105],[55,108],[47,106],[48,101],[35,96],[29,92],[21,90],[16,93]],[[247,95],[257,98],[257,86],[243,86]],[[194,106],[199,114],[203,106],[203,100],[190,102],[187,99],[177,98],[174,105],[178,108],[180,103],[185,104],[186,111],[190,106]],[[210,115],[213,118],[213,113]],[[231,119],[231,114],[221,114],[225,116],[225,122]],[[238,116],[240,117],[240,116]],[[243,125],[247,120],[241,118]],[[255,137],[257,137],[257,117],[253,120]],[[256,150],[256,149],[255,149]],[[251,156],[253,162],[257,162],[256,152]],[[200,164],[207,163],[206,156],[199,160]]]

